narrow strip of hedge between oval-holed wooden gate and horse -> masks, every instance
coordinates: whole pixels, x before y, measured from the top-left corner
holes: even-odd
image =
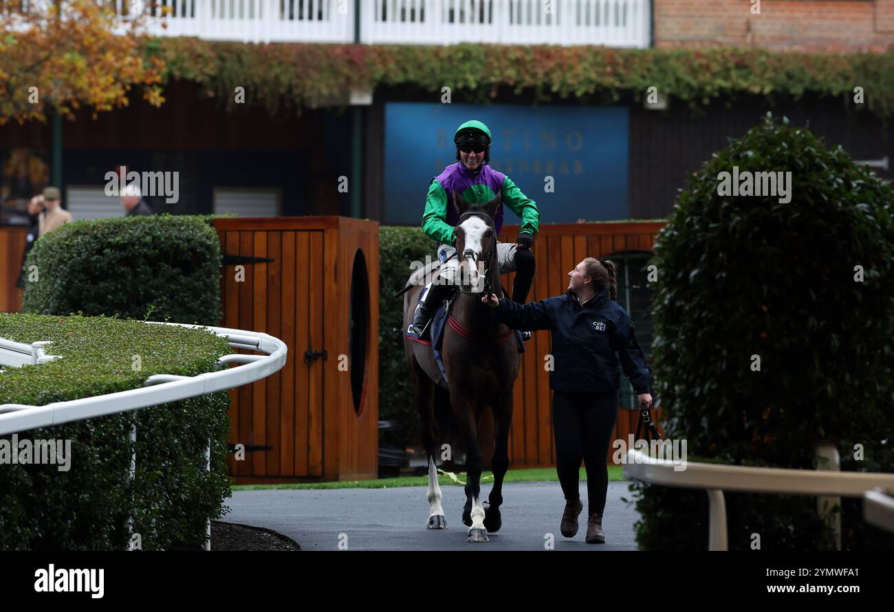
[[[434,241],[421,228],[382,226],[379,230],[379,418],[401,424],[405,445],[419,441],[418,416],[403,352],[403,289],[413,262],[435,258]]]

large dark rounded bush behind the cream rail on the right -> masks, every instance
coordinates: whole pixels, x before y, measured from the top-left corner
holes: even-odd
[[[718,195],[721,172],[734,167],[740,176],[791,172],[790,202]],[[886,181],[768,116],[690,177],[653,263],[656,389],[668,439],[686,439],[703,460],[803,469],[814,469],[814,446],[829,440],[843,471],[894,472],[894,192]],[[706,547],[703,491],[634,489],[640,548]],[[894,535],[864,523],[858,499],[842,506],[843,548],[894,548]],[[730,549],[748,549],[755,532],[763,549],[830,546],[814,497],[729,494],[727,507]]]

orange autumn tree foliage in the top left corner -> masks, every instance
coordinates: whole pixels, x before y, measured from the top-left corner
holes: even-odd
[[[139,14],[114,0],[0,0],[0,124],[128,105],[139,88],[161,105],[164,62],[146,53]],[[131,11],[131,13],[139,13]]]

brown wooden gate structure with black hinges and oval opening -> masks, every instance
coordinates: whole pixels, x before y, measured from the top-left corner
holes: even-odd
[[[232,390],[237,482],[375,478],[378,223],[343,217],[218,219],[224,327],[266,331],[283,370]],[[239,267],[240,266],[240,267]]]

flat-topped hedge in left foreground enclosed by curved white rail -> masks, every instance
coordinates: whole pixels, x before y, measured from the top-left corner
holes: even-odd
[[[110,317],[0,314],[0,338],[52,340],[62,359],[0,373],[0,404],[33,404],[137,389],[150,375],[213,372],[231,353],[207,330]],[[134,371],[139,356],[139,371]],[[128,518],[143,549],[204,540],[229,496],[225,391],[16,434],[72,440],[71,467],[0,465],[0,549],[126,549]],[[130,440],[136,425],[137,441]],[[12,435],[4,436],[12,440]],[[211,440],[211,470],[206,449]],[[134,481],[127,477],[136,453]]]

